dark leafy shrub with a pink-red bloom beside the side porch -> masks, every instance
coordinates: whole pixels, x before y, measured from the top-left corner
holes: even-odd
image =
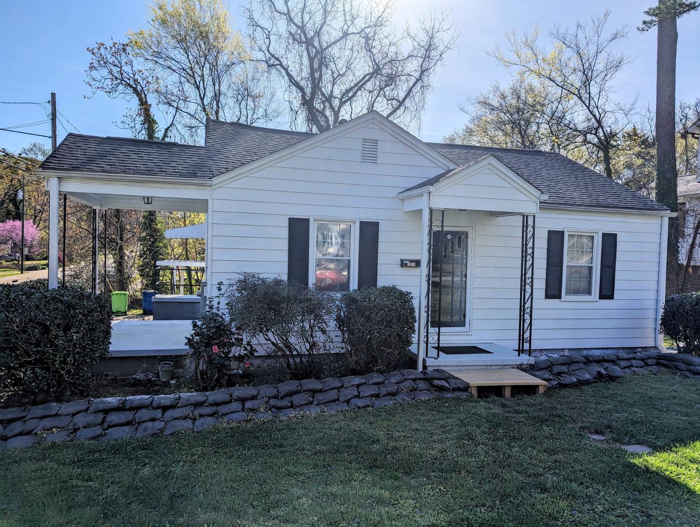
[[[221,291],[221,283],[218,285]],[[220,300],[209,299],[207,311],[192,321],[192,336],[186,338],[195,363],[197,388],[212,390],[236,384],[255,350],[243,333],[221,312]]]

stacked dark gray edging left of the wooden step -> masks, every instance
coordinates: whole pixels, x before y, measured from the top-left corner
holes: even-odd
[[[276,386],[48,402],[0,409],[0,446],[200,432],[221,421],[241,423],[300,412],[338,412],[438,396],[468,396],[467,388],[467,383],[442,370],[400,370],[286,381]]]

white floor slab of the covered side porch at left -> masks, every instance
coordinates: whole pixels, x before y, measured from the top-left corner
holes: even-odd
[[[109,356],[184,355],[191,334],[192,321],[113,321]]]

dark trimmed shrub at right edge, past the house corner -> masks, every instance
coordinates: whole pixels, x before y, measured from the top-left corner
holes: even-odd
[[[673,339],[678,351],[700,356],[700,293],[666,297],[661,332]]]

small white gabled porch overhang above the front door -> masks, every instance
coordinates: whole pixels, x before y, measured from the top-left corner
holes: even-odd
[[[505,166],[494,155],[458,167],[433,184],[399,192],[404,211],[423,208],[429,195],[430,209],[489,211],[492,213],[538,213],[547,195]]]

